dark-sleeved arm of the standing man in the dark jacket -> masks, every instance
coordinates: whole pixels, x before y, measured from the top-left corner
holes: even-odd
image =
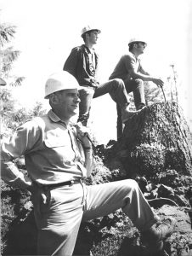
[[[66,59],[63,70],[71,73],[76,78],[76,65],[78,61],[78,47],[71,50],[71,54]]]

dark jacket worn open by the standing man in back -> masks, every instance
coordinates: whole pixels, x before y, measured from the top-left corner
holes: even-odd
[[[78,83],[83,86],[97,87],[96,79],[98,69],[98,55],[93,53],[84,44],[71,50],[71,54],[65,61],[63,70],[71,73]]]

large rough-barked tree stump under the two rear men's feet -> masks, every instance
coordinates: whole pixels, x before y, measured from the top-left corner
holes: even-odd
[[[168,169],[192,175],[192,135],[176,102],[155,103],[125,124],[118,156],[127,173],[149,176]]]

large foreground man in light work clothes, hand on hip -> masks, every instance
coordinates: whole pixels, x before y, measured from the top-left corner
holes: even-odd
[[[175,220],[159,218],[132,179],[87,186],[93,169],[87,127],[71,125],[80,102],[70,73],[54,73],[45,86],[51,110],[21,125],[1,145],[1,177],[12,187],[31,191],[38,229],[37,255],[71,256],[82,221],[121,208],[155,252],[172,233]],[[25,156],[27,174],[15,159]]]

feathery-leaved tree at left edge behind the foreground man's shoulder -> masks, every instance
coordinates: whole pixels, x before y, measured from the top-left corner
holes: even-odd
[[[12,46],[8,44],[14,38],[15,26],[10,26],[8,24],[0,25],[0,77],[7,82],[7,86],[0,91],[0,116],[2,119],[1,125],[1,136],[10,135],[15,128],[21,123],[25,122],[33,116],[37,116],[43,113],[42,103],[37,102],[37,106],[31,111],[27,111],[25,108],[16,109],[16,100],[12,96],[13,86],[19,86],[22,84],[24,77],[18,77],[11,74],[11,69],[14,61],[16,61],[20,55],[20,50],[14,50]],[[8,47],[6,47],[8,46]],[[2,84],[5,85],[5,84]]]

